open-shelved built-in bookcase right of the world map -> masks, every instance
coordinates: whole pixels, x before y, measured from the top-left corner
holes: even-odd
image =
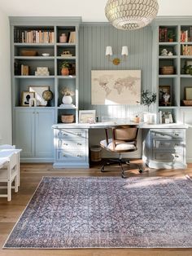
[[[192,100],[186,100],[190,95],[185,93],[187,87],[192,90],[192,21],[157,19],[154,24],[157,113],[171,113],[174,122],[185,121],[185,109],[192,113]],[[168,102],[162,99],[164,92],[170,95]]]

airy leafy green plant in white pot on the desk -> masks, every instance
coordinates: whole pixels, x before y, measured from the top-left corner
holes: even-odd
[[[155,122],[155,114],[149,113],[149,109],[150,109],[151,104],[155,104],[156,99],[157,99],[157,96],[155,93],[152,93],[148,90],[142,91],[141,104],[144,106],[147,106],[147,108],[148,108],[148,113],[144,113],[144,122],[146,122],[148,124]]]

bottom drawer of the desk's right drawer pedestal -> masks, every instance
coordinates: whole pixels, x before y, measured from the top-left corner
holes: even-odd
[[[153,152],[153,160],[155,161],[183,161],[182,152]]]

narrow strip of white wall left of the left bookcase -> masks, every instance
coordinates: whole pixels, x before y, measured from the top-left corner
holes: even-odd
[[[0,10],[0,143],[11,143],[10,28]]]

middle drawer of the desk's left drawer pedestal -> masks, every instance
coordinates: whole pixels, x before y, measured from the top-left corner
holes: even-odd
[[[77,140],[68,140],[68,139],[59,139],[58,148],[63,149],[67,152],[85,152],[86,140],[77,139]]]

